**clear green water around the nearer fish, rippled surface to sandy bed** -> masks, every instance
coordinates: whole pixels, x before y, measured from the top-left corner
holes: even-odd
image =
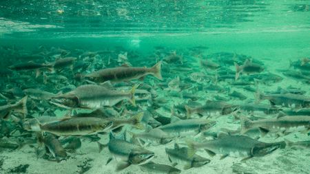
[[[63,51],[55,51],[58,49]],[[68,54],[63,56],[63,52]],[[89,52],[94,55],[83,56]],[[182,60],[167,63],[165,59],[174,55],[174,52]],[[119,61],[121,54],[127,54],[127,60]],[[52,63],[65,57],[76,59],[72,65],[55,72],[47,69],[8,70],[8,67],[19,63]],[[227,65],[223,63],[226,60],[221,59],[223,57],[233,61]],[[253,63],[258,62],[264,70],[249,74],[242,72],[240,78],[235,80],[234,63],[246,65],[244,57]],[[112,115],[116,118],[130,118],[136,113],[156,111],[159,116],[164,116],[164,120],[175,117],[186,120],[185,105],[198,107],[210,100],[221,100],[238,106],[249,103],[258,105],[255,102],[258,93],[274,92],[284,95],[286,91],[292,90],[300,92],[298,97],[307,98],[304,99],[304,103],[307,103],[310,100],[310,64],[300,63],[302,60],[309,61],[309,57],[310,1],[306,0],[0,1],[0,106],[13,104],[23,96],[28,96],[28,114],[25,118],[19,118],[21,114],[12,110],[8,120],[2,119],[4,111],[0,112],[0,174],[116,173],[117,161],[112,160],[105,165],[112,153],[107,148],[98,153],[96,141],[89,142],[78,136],[81,148],[76,151],[66,150],[68,155],[65,160],[56,159],[45,151],[45,146],[48,146],[46,142],[39,146],[37,134],[24,130],[21,126],[23,122],[41,116],[63,118],[68,116],[68,109],[52,105],[50,98],[34,98],[31,94],[26,94],[25,89],[39,89],[53,95],[60,94],[61,91],[65,93],[81,85],[96,84],[92,80],[76,80],[76,74],[90,74],[124,64],[152,67],[154,63],[163,61],[163,80],[149,75],[144,80],[112,83],[118,91],[130,91],[138,84],[147,85],[149,88],[138,86],[138,89],[145,89],[149,95],[145,99],[136,94],[138,107],[132,107],[125,100],[105,109],[113,109],[112,113],[117,113],[117,116]],[[200,60],[212,61],[220,67],[216,70],[203,67]],[[89,64],[85,68],[75,69],[78,63]],[[261,74],[265,74],[267,78],[261,80]],[[268,80],[274,74],[280,76],[281,80],[270,83]],[[211,85],[217,86],[211,89]],[[246,86],[253,90],[245,89]],[[278,91],[280,88],[285,92]],[[233,91],[239,92],[246,99],[233,96]],[[185,94],[190,95],[186,97]],[[207,130],[207,133],[210,131],[216,134],[223,129],[231,129],[237,130],[236,135],[239,135],[240,117],[251,120],[273,119],[279,117],[280,110],[288,115],[309,117],[307,104],[301,107],[296,107],[296,103],[293,106],[282,103],[273,106],[270,104],[272,101],[268,100],[261,103],[276,107],[277,113],[252,113],[237,107],[236,113],[225,116],[207,118],[194,114],[192,118],[216,121],[215,126]],[[285,99],[284,102],[288,100]],[[298,113],[300,109],[308,110]],[[73,113],[94,111],[81,108],[73,110]],[[157,118],[156,114],[150,114]],[[126,125],[123,130],[141,133],[156,129],[150,125],[146,123],[143,130]],[[175,167],[181,173],[310,173],[309,124],[305,127],[308,130],[287,133],[287,128],[285,131],[267,133],[266,136],[256,130],[246,136],[268,143],[302,141],[308,144],[306,147],[291,147],[287,144],[285,149],[277,149],[244,162],[240,161],[243,157],[235,157],[234,154],[217,154],[211,157],[205,151],[198,151],[198,155],[211,162],[188,170],[185,170],[184,164],[177,164]],[[200,134],[177,137],[172,142],[159,146],[150,144],[145,149],[155,153],[156,157],[152,162],[172,166],[174,162],[169,160],[165,148],[173,149],[174,143],[188,147],[189,140],[211,140],[207,135],[204,137]],[[107,133],[99,134],[99,137],[101,144],[109,141]],[[63,140],[63,136],[56,140]],[[13,145],[6,144],[7,142]],[[220,160],[221,156],[224,157],[223,160]],[[132,164],[119,173],[152,172]]]

